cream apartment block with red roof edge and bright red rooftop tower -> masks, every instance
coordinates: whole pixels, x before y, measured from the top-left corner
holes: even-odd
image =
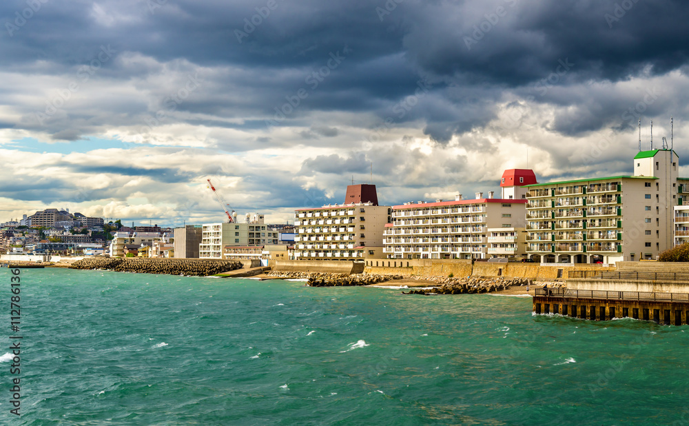
[[[529,183],[536,183],[532,170],[505,170],[499,199],[491,191],[487,198],[477,192],[475,199],[463,199],[462,194],[457,194],[455,201],[395,205],[393,221],[385,231],[384,252],[388,258],[407,259],[515,256],[518,250],[508,249],[517,249],[517,243],[508,241],[507,234],[518,235],[517,230],[525,225],[524,185]],[[504,235],[497,231],[491,235],[489,229],[504,230]],[[504,241],[493,241],[491,236]]]

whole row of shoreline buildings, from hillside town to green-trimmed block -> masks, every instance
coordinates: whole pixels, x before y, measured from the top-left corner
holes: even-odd
[[[505,170],[500,193],[379,205],[376,185],[342,204],[297,208],[294,225],[243,221],[159,227],[48,208],[0,225],[0,253],[268,260],[491,259],[605,263],[655,259],[689,240],[689,178],[671,149],[639,151],[633,174],[537,183]],[[213,188],[215,191],[215,189]],[[396,264],[396,263],[395,263]],[[401,264],[401,263],[400,263]],[[381,264],[382,266],[382,264]]]

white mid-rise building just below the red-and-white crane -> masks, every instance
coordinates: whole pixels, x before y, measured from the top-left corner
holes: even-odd
[[[200,258],[223,258],[226,245],[277,244],[278,232],[269,231],[263,215],[254,215],[251,223],[205,223],[198,246]]]

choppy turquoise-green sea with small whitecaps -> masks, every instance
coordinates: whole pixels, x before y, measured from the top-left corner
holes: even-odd
[[[689,328],[531,299],[21,271],[21,417],[2,425],[684,425]],[[4,355],[3,355],[4,354]]]

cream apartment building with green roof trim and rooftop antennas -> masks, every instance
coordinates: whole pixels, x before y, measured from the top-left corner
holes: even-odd
[[[535,261],[651,259],[673,245],[679,157],[640,151],[634,174],[528,185],[527,252]]]

